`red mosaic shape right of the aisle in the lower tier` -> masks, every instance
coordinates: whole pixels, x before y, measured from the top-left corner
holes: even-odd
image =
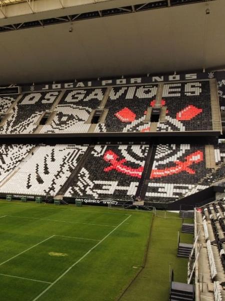
[[[174,161],[175,166],[165,168],[163,170],[157,170],[154,169],[151,171],[150,179],[153,178],[161,178],[161,177],[167,177],[174,174],[179,174],[181,172],[187,172],[188,174],[195,174],[195,171],[189,168],[192,164],[197,164],[201,161],[203,161],[203,153],[200,150],[197,150],[196,152],[188,155],[184,158],[185,161]]]

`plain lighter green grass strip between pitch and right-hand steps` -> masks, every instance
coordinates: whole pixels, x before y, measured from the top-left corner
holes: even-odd
[[[187,259],[176,257],[177,231],[180,231],[182,220],[174,213],[166,216],[166,219],[154,217],[145,267],[125,291],[121,301],[135,301],[138,295],[141,295],[141,301],[167,301],[169,265],[174,270],[174,281],[186,283]],[[180,241],[192,243],[192,234],[180,233]]]

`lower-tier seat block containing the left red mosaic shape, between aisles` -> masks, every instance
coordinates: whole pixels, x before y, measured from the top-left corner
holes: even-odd
[[[145,145],[95,145],[65,196],[130,200],[136,193],[147,151]]]

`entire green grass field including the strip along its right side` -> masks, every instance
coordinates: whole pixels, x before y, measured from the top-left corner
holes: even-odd
[[[0,301],[166,301],[169,263],[176,281],[186,277],[174,217],[2,200]]]

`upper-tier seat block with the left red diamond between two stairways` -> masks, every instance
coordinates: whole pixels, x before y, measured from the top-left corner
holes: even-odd
[[[105,104],[108,112],[104,126],[97,124],[95,132],[149,131],[150,122],[144,122],[145,114],[156,93],[157,85],[112,87]]]

